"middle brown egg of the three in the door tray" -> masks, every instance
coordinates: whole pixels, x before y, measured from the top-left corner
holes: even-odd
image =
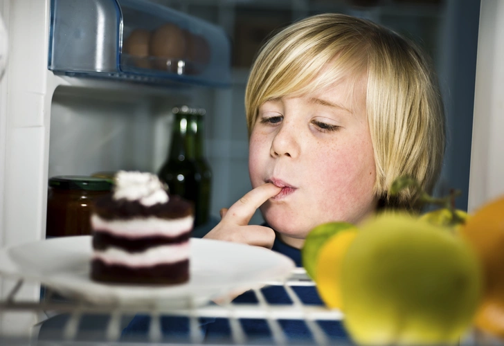
[[[172,71],[186,53],[186,39],[181,28],[168,23],[157,28],[150,40],[150,55],[156,57],[156,69]],[[170,64],[171,63],[171,64]]]

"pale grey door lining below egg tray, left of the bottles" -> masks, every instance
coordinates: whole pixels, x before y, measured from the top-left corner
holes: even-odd
[[[51,102],[48,176],[157,172],[170,143],[170,113],[187,92],[159,95],[61,86]]]

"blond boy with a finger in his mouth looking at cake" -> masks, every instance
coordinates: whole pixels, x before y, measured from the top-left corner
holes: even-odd
[[[359,224],[377,208],[414,208],[415,192],[388,196],[404,174],[430,191],[444,152],[444,114],[429,64],[410,42],[363,19],[326,14],[285,28],[258,55],[246,88],[249,172],[253,190],[222,211],[205,236],[264,246],[291,257],[312,228]],[[249,226],[260,208],[265,226]],[[281,286],[263,289],[270,303],[289,303]],[[322,304],[313,286],[296,293]],[[254,302],[244,293],[235,302]],[[185,320],[166,320],[166,334]],[[323,329],[345,339],[340,322]],[[309,337],[303,323],[282,322],[287,336]],[[148,326],[138,316],[125,336]],[[249,338],[269,335],[264,321],[242,323]],[[207,338],[229,332],[224,319],[201,321]]]

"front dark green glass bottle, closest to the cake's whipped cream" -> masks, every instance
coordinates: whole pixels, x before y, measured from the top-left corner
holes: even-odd
[[[170,194],[192,201],[195,209],[198,201],[199,182],[196,180],[195,136],[190,128],[191,109],[187,106],[174,107],[172,139],[168,158],[161,166],[158,176],[168,184]]]

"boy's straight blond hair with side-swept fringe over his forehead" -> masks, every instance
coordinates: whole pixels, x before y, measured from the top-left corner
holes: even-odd
[[[367,80],[366,111],[377,172],[374,192],[384,207],[412,210],[417,191],[390,197],[388,190],[397,177],[408,175],[431,192],[444,154],[444,111],[426,57],[387,28],[348,15],[324,14],[272,37],[255,60],[246,86],[249,134],[267,100],[320,91],[348,77]]]

